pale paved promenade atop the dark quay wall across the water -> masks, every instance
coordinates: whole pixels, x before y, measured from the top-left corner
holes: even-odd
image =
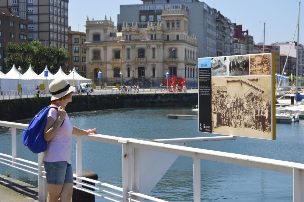
[[[32,94],[30,94],[32,93]],[[106,94],[120,94],[121,92],[116,89],[116,88],[112,88],[112,89],[94,89],[94,91],[92,93],[89,93],[89,95],[106,95]],[[167,89],[163,89],[163,91],[161,92],[161,90],[158,88],[158,89],[150,89],[150,88],[145,88],[145,89],[139,89],[138,91],[138,94],[154,94],[154,93],[157,93],[157,94],[160,94],[160,93],[168,93],[168,90]],[[169,93],[172,93],[172,92],[169,92]],[[178,92],[178,93],[181,93],[181,92]],[[198,89],[187,89],[187,93],[198,93]],[[137,90],[134,91],[134,89],[132,89],[131,92],[128,92],[126,91],[126,94],[137,94]],[[82,93],[81,95],[87,95],[86,93]],[[51,96],[50,94],[40,94],[40,97],[46,97],[46,96]],[[76,96],[76,95],[74,95]],[[34,94],[33,92],[22,92],[22,95],[21,95],[22,98],[33,98],[34,97]],[[10,94],[8,94],[8,92],[5,92],[5,94],[3,95],[0,95],[0,100],[4,99],[19,99],[20,98],[20,95],[16,94],[15,96],[15,92],[10,92]]]

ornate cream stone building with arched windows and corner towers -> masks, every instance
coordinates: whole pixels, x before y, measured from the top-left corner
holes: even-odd
[[[170,75],[197,80],[197,40],[188,35],[186,9],[162,10],[156,23],[123,23],[117,32],[110,20],[86,21],[87,77],[124,80]]]

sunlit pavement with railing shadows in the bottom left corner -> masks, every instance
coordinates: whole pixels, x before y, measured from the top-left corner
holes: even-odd
[[[0,202],[38,201],[38,188],[0,174]]]

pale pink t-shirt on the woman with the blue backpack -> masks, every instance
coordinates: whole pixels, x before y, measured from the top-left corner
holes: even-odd
[[[57,109],[50,108],[47,117],[57,119]],[[67,161],[71,164],[73,126],[68,115],[65,116],[64,123],[57,131],[56,135],[49,141],[47,154],[44,161],[57,162]]]

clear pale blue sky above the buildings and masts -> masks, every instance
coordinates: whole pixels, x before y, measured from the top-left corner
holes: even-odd
[[[202,2],[202,1],[201,1]],[[249,35],[254,37],[255,43],[263,41],[263,22],[266,22],[265,44],[291,41],[298,20],[298,5],[295,0],[205,0],[212,8],[219,10],[232,22],[243,25]],[[304,2],[300,8],[300,43],[304,43]],[[92,20],[103,20],[112,17],[117,25],[119,5],[142,4],[140,0],[70,0],[69,25],[73,31],[85,32],[87,15]],[[301,37],[302,36],[302,37]],[[297,36],[295,36],[295,41]]]

